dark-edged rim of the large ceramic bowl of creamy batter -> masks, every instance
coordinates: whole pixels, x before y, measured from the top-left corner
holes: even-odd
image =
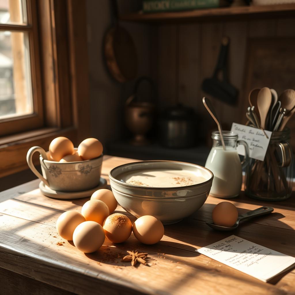
[[[116,178],[114,178],[112,176],[112,173],[114,172],[115,169],[117,168],[120,168],[120,167],[124,167],[124,166],[128,166],[128,165],[131,165],[131,164],[140,164],[140,163],[146,163],[146,162],[173,162],[173,163],[179,163],[179,164],[189,164],[189,165],[194,165],[194,166],[197,166],[201,169],[204,169],[204,170],[207,170],[210,174],[211,174],[211,177],[204,181],[204,182],[201,182],[201,183],[196,183],[196,184],[191,184],[191,185],[188,185],[188,186],[170,186],[170,187],[153,187],[153,186],[139,186],[139,185],[134,185],[134,184],[131,184],[131,183],[127,183],[127,182],[123,182],[123,181],[120,181]],[[214,175],[212,173],[211,170],[209,170],[208,168],[205,168],[201,165],[198,165],[198,164],[194,164],[194,163],[189,163],[189,162],[181,162],[181,161],[173,161],[173,160],[147,160],[147,161],[138,161],[138,162],[132,162],[132,163],[127,163],[127,164],[123,164],[123,165],[119,165],[115,168],[113,168],[110,172],[109,172],[109,179],[114,181],[115,183],[119,184],[119,185],[122,185],[122,186],[125,186],[125,187],[132,187],[132,188],[136,188],[136,189],[152,189],[152,190],[167,190],[167,189],[187,189],[187,188],[193,188],[193,187],[198,187],[198,186],[203,186],[207,183],[209,183],[210,181],[212,181],[214,178]]]

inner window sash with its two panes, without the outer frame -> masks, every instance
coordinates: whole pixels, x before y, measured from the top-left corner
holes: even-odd
[[[36,32],[32,1],[0,0],[0,135],[43,124]]]

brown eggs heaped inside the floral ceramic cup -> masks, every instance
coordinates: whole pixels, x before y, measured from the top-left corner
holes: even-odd
[[[71,140],[60,136],[50,143],[48,160],[63,163],[79,162],[97,158],[102,154],[102,151],[102,144],[96,138],[83,140],[78,146],[78,151],[76,151]]]

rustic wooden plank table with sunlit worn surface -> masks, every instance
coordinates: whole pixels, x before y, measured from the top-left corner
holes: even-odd
[[[105,156],[102,176],[134,160]],[[267,203],[271,215],[244,222],[233,232],[216,232],[205,221],[214,204],[204,206],[178,224],[166,225],[155,245],[107,239],[99,251],[84,254],[58,236],[55,222],[66,210],[78,210],[88,199],[56,200],[43,196],[38,180],[0,194],[0,294],[295,294],[295,270],[263,283],[195,250],[231,234],[295,256],[294,196]],[[239,212],[265,205],[241,194],[230,200]],[[117,207],[116,212],[130,214]],[[58,242],[62,246],[57,245]],[[150,266],[121,262],[126,250],[138,249],[153,258]]]

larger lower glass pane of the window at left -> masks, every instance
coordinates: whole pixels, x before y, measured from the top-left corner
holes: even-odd
[[[0,31],[0,119],[32,113],[28,35]]]

